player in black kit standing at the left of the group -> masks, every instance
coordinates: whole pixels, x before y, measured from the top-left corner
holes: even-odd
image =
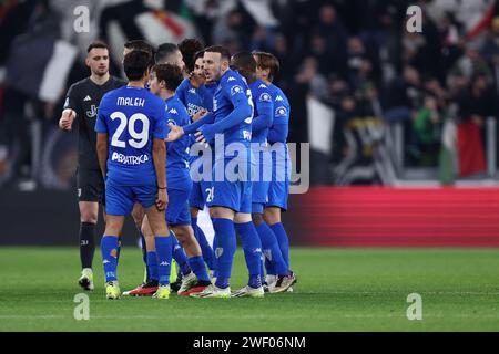
[[[125,82],[109,73],[109,49],[101,42],[89,45],[86,66],[91,75],[71,85],[59,127],[71,131],[78,122],[78,200],[80,208],[80,259],[82,272],[78,280],[84,290],[93,290],[92,260],[95,250],[95,225],[99,202],[103,202],[104,180],[99,167],[94,132],[98,107],[102,96],[109,91],[125,85]]]

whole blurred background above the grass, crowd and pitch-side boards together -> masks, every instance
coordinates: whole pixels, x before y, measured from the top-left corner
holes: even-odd
[[[108,42],[120,76],[125,41],[195,37],[281,60],[288,142],[310,144],[292,244],[499,246],[497,14],[492,0],[2,1],[0,243],[78,242],[77,136],[57,122],[86,45]]]

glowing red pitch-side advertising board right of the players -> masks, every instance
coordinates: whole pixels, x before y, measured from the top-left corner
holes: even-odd
[[[499,188],[318,187],[289,206],[295,244],[499,247]]]

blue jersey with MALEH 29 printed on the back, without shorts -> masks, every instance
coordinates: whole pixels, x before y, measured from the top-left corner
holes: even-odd
[[[109,179],[123,186],[155,184],[152,143],[167,135],[164,115],[164,101],[145,88],[124,86],[102,97],[95,132],[109,135]]]

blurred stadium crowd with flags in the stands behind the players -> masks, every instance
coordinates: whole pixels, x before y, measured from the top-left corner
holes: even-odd
[[[411,4],[422,9],[421,33],[407,31]],[[90,10],[89,32],[74,30],[79,6]],[[393,184],[410,168],[442,183],[496,177],[495,0],[7,0],[0,186],[71,184],[74,135],[57,121],[67,87],[88,75],[90,41],[106,41],[119,63],[129,39],[187,37],[275,53],[292,104],[288,142],[310,143],[313,184]],[[116,64],[112,73],[121,75]]]

